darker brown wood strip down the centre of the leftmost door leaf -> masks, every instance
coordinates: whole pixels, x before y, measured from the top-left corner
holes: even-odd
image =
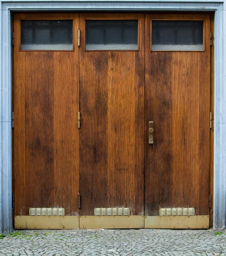
[[[38,72],[37,72],[38,71]],[[53,206],[54,57],[52,52],[25,53],[26,203]],[[29,199],[28,199],[29,198]]]

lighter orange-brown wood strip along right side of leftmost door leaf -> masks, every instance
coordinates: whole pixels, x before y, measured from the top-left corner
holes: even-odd
[[[76,24],[75,31],[78,30]],[[54,53],[54,178],[55,204],[65,202],[68,215],[78,214],[79,129],[78,52]],[[60,205],[59,205],[60,207]]]

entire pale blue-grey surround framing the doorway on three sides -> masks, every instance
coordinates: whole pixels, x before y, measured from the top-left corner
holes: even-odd
[[[214,120],[214,228],[225,228],[226,223],[226,9],[224,1],[216,0],[100,0],[1,1],[0,8],[0,214],[5,231],[12,229],[11,209],[11,29],[10,11],[93,10],[93,11],[215,11],[215,120]]]

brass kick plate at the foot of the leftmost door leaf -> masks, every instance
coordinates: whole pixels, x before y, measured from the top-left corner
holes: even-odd
[[[79,216],[15,216],[15,229],[78,229]]]

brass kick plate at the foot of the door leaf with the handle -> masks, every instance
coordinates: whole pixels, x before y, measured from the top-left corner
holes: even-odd
[[[159,229],[207,229],[209,215],[193,216],[146,216],[144,228]]]

